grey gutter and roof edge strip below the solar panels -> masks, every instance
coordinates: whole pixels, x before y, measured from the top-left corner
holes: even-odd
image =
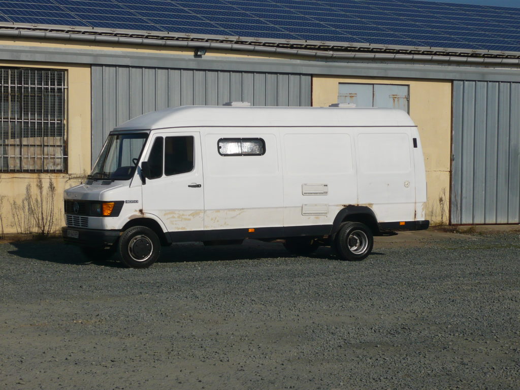
[[[255,37],[174,34],[55,25],[0,22],[0,36],[54,40],[110,42],[132,45],[214,48],[258,51],[313,58],[402,59],[492,64],[520,64],[520,52],[457,48],[375,45],[367,43],[274,40]]]

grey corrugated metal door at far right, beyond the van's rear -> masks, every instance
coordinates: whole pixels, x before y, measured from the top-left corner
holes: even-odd
[[[520,222],[520,83],[453,82],[451,223]]]

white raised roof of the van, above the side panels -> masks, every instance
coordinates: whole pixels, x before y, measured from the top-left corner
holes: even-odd
[[[205,126],[415,126],[402,110],[345,107],[183,106],[148,112],[114,130]]]

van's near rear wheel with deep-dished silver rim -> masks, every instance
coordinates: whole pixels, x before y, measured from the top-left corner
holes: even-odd
[[[372,231],[359,222],[345,222],[336,234],[336,251],[343,260],[360,261],[372,252],[373,246]]]

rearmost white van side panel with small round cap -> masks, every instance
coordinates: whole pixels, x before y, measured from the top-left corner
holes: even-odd
[[[410,128],[363,128],[356,137],[359,204],[378,222],[415,219],[415,169]]]

